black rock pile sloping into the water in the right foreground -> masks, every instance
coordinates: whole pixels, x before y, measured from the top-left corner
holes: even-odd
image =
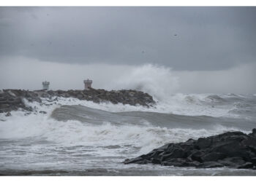
[[[167,143],[159,149],[124,164],[148,163],[175,167],[230,167],[256,169],[256,129],[246,135],[243,132],[225,132],[184,143]]]

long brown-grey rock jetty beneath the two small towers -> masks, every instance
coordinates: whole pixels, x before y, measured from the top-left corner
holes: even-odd
[[[25,111],[31,111],[32,108],[26,106],[24,98],[29,102],[36,101],[42,103],[41,98],[48,98],[54,101],[53,98],[78,98],[80,100],[91,100],[94,103],[110,102],[113,104],[123,103],[132,106],[150,107],[155,104],[155,101],[147,93],[137,90],[0,90],[0,113],[16,111],[21,108]]]

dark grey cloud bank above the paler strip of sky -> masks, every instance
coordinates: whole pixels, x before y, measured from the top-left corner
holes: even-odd
[[[151,63],[190,76],[249,66],[241,83],[252,82],[255,18],[256,7],[0,7],[0,84],[12,87],[4,80],[13,82],[10,61],[20,58],[58,67]]]

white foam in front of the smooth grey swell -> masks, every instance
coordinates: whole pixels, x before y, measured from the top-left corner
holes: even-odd
[[[7,122],[0,122],[1,139],[45,138],[47,141],[63,146],[131,145],[141,148],[141,154],[165,143],[187,141],[189,138],[215,135],[227,130],[230,128],[216,127],[215,130],[191,130],[131,124],[118,126],[110,123],[89,125],[73,120],[59,122],[44,114],[20,116],[19,112],[13,113]],[[103,154],[104,152],[99,151],[99,153]]]

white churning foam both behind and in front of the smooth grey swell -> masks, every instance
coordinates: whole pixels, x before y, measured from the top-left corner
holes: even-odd
[[[146,68],[150,70],[149,68]],[[168,72],[168,71],[167,71]],[[165,73],[166,74],[166,73]],[[149,82],[149,81],[148,81]],[[145,87],[143,87],[146,89]],[[157,92],[157,91],[156,91]],[[130,106],[121,103],[93,103],[76,98],[57,98],[50,102],[42,98],[42,103],[30,103],[24,100],[27,106],[34,108],[34,113],[24,116],[23,111],[12,111],[12,116],[0,114],[0,138],[26,138],[39,137],[48,141],[61,143],[63,145],[129,145],[141,147],[140,151],[146,152],[161,146],[167,142],[186,141],[189,138],[214,135],[227,130],[225,127],[216,127],[215,130],[192,130],[179,128],[152,127],[150,125],[121,125],[105,123],[102,125],[88,125],[82,122],[70,120],[58,122],[50,117],[54,108],[62,105],[82,105],[90,108],[102,109],[104,111],[151,111],[158,113],[172,113],[187,116],[236,116],[229,111],[234,108],[233,104],[219,104],[219,98],[239,97],[239,95],[217,95],[212,94],[168,94],[165,100],[158,100],[154,108],[144,106]],[[215,100],[214,100],[215,99]],[[49,105],[52,103],[53,105]],[[41,114],[39,111],[46,111]],[[228,128],[228,130],[231,130]],[[234,128],[234,130],[236,130]]]

